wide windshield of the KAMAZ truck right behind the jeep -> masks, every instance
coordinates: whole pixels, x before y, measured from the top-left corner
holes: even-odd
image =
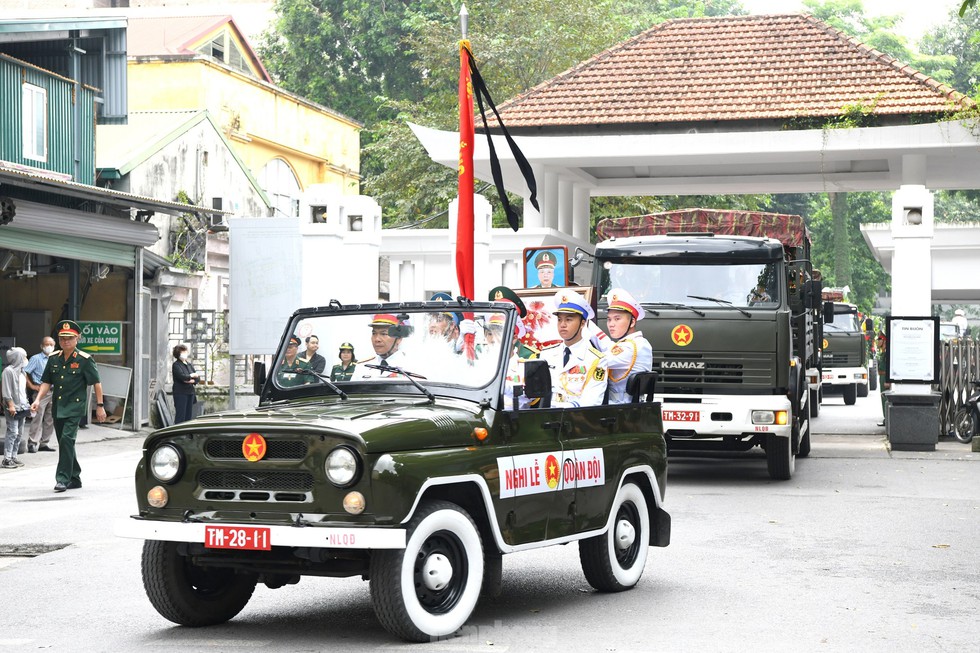
[[[772,262],[705,265],[603,261],[599,292],[601,296],[611,288],[625,288],[644,304],[774,309],[780,303],[776,272]]]

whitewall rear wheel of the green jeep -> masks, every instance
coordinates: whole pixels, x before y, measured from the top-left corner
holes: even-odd
[[[621,592],[636,585],[650,546],[650,513],[635,483],[623,483],[612,514],[615,518],[605,533],[578,543],[585,580],[600,592]]]

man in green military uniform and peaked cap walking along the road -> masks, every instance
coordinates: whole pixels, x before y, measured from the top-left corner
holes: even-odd
[[[41,389],[31,405],[36,411],[41,399],[52,392],[54,432],[58,437],[58,469],[55,473],[55,492],[74,490],[82,487],[80,474],[82,468],[75,456],[75,436],[78,424],[85,416],[88,386],[95,390],[95,419],[105,421],[105,408],[102,406],[102,383],[99,370],[92,357],[78,349],[78,335],[81,329],[71,320],[64,320],[58,327],[56,351],[48,358],[48,364],[41,374]]]

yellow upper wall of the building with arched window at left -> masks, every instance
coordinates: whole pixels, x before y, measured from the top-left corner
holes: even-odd
[[[302,188],[358,193],[357,123],[205,59],[130,61],[127,72],[130,111],[207,109],[252,174],[279,157]]]

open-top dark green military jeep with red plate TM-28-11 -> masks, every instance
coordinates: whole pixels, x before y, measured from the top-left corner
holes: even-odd
[[[444,329],[460,317],[470,342]],[[386,629],[427,641],[499,591],[502,554],[573,540],[593,587],[633,587],[670,540],[652,379],[635,378],[635,403],[549,408],[547,364],[513,353],[517,319],[501,302],[296,312],[268,378],[256,365],[256,409],[146,439],[139,514],[117,532],[146,540],[153,607],[211,625],[260,582],[361,576]],[[302,359],[310,335],[328,356],[353,347],[349,380]]]

